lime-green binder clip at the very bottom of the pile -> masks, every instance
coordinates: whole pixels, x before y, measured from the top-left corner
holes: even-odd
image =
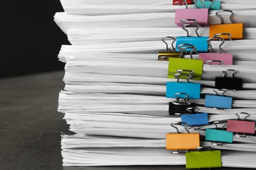
[[[211,147],[198,147],[187,152],[186,169],[200,169],[221,167],[221,150],[212,150]]]

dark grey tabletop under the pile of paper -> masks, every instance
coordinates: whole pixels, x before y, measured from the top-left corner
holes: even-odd
[[[185,169],[184,166],[62,167],[60,133],[70,133],[57,112],[64,71],[0,79],[0,169]],[[234,168],[221,168],[234,169]],[[241,168],[238,168],[241,169]]]

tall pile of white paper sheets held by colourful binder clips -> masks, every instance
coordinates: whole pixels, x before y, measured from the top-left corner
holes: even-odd
[[[166,50],[163,37],[186,36],[174,24],[175,9],[167,0],[61,0],[65,12],[57,12],[54,21],[68,35],[71,46],[63,45],[58,58],[66,62],[58,111],[75,135],[62,135],[64,166],[91,165],[184,165],[183,154],[165,149],[166,133],[176,133],[165,97],[168,62],[158,61],[158,52]],[[189,9],[194,5],[188,5]],[[256,120],[256,1],[221,1],[221,9],[233,10],[234,21],[244,23],[244,39],[225,41],[224,53],[232,53],[234,65],[203,65],[200,112],[209,113],[209,122],[236,119],[236,112],[248,112]],[[215,10],[209,23],[219,24]],[[228,14],[223,14],[228,22]],[[188,28],[191,36],[196,34]],[[198,29],[208,36],[209,28]],[[220,42],[211,42],[219,52]],[[194,55],[198,58],[198,55]],[[185,58],[189,58],[186,56]],[[243,89],[228,91],[232,109],[204,107],[204,96],[214,94],[215,77],[224,69],[238,71]],[[203,126],[195,133],[205,135]],[[182,133],[184,128],[179,129]],[[215,146],[222,149],[223,167],[256,168],[256,137],[233,137],[234,143]],[[202,146],[212,146],[202,141]]]

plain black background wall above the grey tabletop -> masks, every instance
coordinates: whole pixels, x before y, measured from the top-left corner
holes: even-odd
[[[54,23],[59,0],[4,0],[0,3],[0,78],[63,70],[61,44],[70,44]]]

